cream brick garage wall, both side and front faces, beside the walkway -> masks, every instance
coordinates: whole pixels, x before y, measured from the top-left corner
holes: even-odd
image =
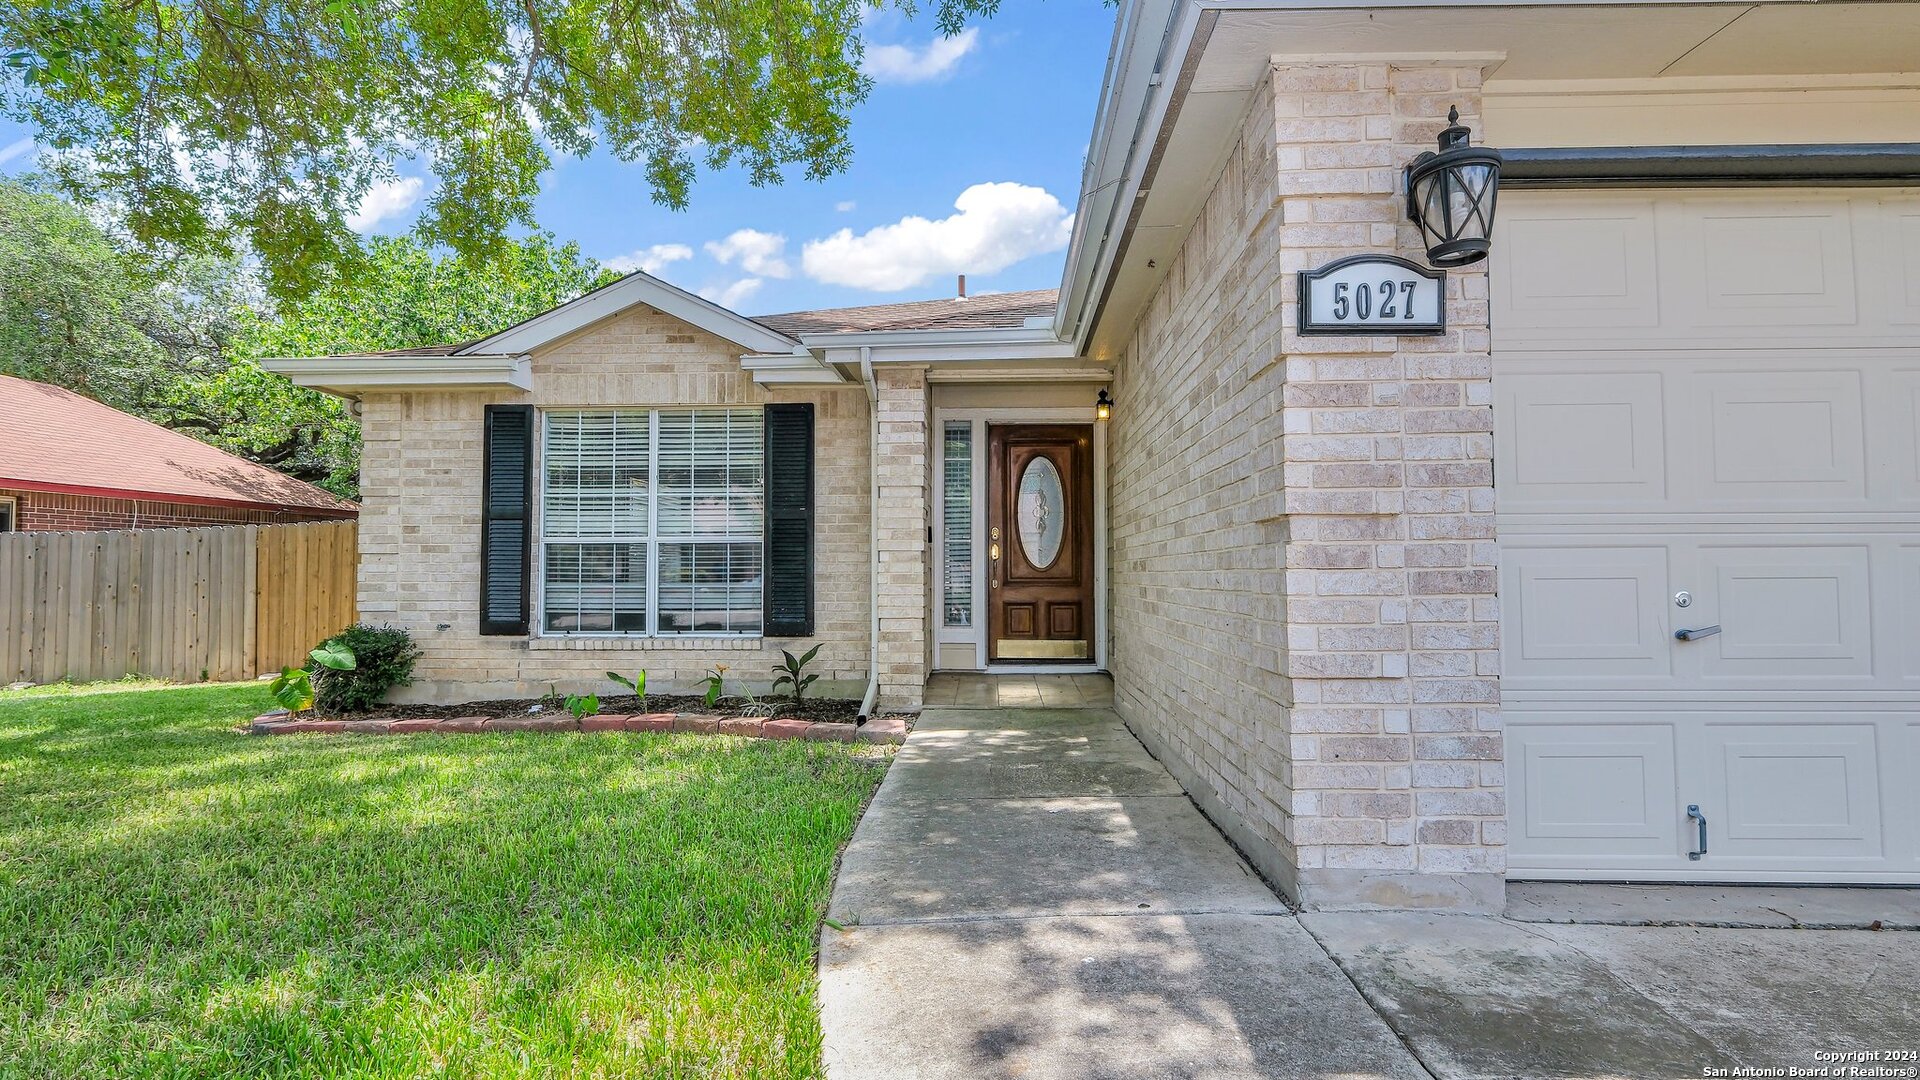
[[[1309,905],[1500,905],[1486,277],[1448,334],[1300,338],[1294,275],[1421,259],[1400,167],[1480,71],[1275,69],[1116,380],[1121,713]]]

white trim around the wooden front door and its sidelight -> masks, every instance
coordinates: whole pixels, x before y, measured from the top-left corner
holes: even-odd
[[[1052,673],[1066,675],[1085,671],[1085,665],[1020,665],[987,663],[987,425],[1091,425],[1092,427],[1092,669],[1108,671],[1108,611],[1106,611],[1106,427],[1087,407],[1031,407],[1031,409],[933,409],[929,436],[937,434],[939,444],[947,440],[947,421],[973,423],[973,625],[947,626],[947,484],[945,477],[935,479],[933,469],[941,469],[943,454],[927,454],[929,484],[933,488],[933,544],[927,559],[933,563],[933,594],[929,596],[927,625],[933,626],[933,669],[939,667],[943,644],[972,644],[973,667],[983,673]]]

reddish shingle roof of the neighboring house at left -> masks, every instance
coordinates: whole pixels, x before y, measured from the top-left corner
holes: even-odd
[[[359,507],[92,398],[0,375],[0,486],[319,509]]]

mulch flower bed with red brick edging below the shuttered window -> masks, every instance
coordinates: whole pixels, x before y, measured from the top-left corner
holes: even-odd
[[[701,698],[670,698],[649,694],[647,705],[695,701],[707,709]],[[378,717],[334,719],[301,717],[288,713],[267,713],[248,724],[252,734],[459,734],[459,732],[703,732],[732,734],[741,738],[804,738],[810,742],[870,742],[899,746],[906,742],[908,717],[899,713],[872,717],[854,726],[852,719],[858,701],[780,701],[780,717],[760,715],[720,715],[714,711],[622,711],[620,705],[637,707],[639,698],[603,698],[605,711],[574,719],[564,705],[551,701],[472,701],[467,705],[394,705],[382,709]],[[730,701],[716,701],[728,705]],[[799,707],[795,707],[799,705]],[[808,719],[831,717],[841,709],[822,705],[849,705],[843,709],[845,721]]]

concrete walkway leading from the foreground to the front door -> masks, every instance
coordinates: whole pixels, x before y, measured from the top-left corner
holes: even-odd
[[[1425,1076],[1106,709],[929,709],[847,847],[854,1078]]]

